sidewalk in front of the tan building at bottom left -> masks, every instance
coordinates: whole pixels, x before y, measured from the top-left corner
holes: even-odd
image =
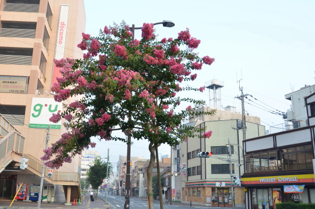
[[[12,200],[9,199],[0,199],[0,209],[38,209],[37,202],[28,202],[28,201],[20,201],[15,200],[11,207]],[[105,202],[102,198],[95,198],[94,202],[91,202],[90,197],[86,196],[85,201],[80,205],[75,206],[65,206],[64,203],[45,203],[42,202],[40,204],[40,208],[42,209],[111,209],[112,207],[109,205],[105,205]]]

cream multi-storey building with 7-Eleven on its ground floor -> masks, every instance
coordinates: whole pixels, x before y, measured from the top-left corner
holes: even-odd
[[[209,107],[201,108],[201,111],[209,110],[211,110]],[[205,121],[191,119],[188,125],[205,128],[205,132],[213,131],[213,133],[209,139],[188,138],[187,142],[181,144],[180,159],[177,160],[177,165],[173,168],[173,170],[181,171],[181,201],[184,203],[190,203],[191,201],[193,204],[205,206],[231,207],[231,176],[226,144],[230,139],[232,173],[240,177],[244,172],[242,159],[243,134],[239,128],[240,122],[242,122],[242,114],[217,110],[213,116],[205,115],[195,119]],[[260,125],[260,119],[257,117],[246,115],[246,127],[246,137],[265,134],[265,127]],[[203,132],[199,134],[202,136]],[[209,158],[197,157],[200,152],[212,152],[213,155]],[[176,154],[173,154],[173,156],[178,157]],[[180,169],[178,166],[180,166]],[[244,206],[243,188],[235,186],[234,191],[235,205],[238,207]]]

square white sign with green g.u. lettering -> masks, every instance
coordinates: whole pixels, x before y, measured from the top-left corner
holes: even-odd
[[[49,118],[53,114],[60,113],[63,110],[63,104],[55,102],[53,98],[36,98],[32,99],[30,128],[36,129],[60,129],[61,121],[53,123]]]

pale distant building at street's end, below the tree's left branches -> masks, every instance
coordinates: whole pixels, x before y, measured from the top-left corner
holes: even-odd
[[[100,153],[95,150],[84,150],[81,159],[81,179],[87,178],[87,172],[95,159],[100,159]]]

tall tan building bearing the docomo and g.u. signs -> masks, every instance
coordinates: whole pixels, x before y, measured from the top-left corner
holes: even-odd
[[[46,139],[49,138],[50,146],[67,131],[62,123],[51,124],[48,120],[52,113],[63,110],[62,104],[56,103],[51,94],[51,86],[60,75],[53,60],[82,57],[77,44],[82,39],[85,22],[83,0],[0,1],[1,126],[9,124],[24,138],[23,142],[20,139],[19,143],[14,141],[14,157],[0,161],[2,166],[5,165],[1,177],[14,177],[11,193],[2,192],[1,195],[14,194],[17,183],[39,185],[40,157]],[[3,140],[11,140],[10,131],[1,131]],[[17,147],[23,149],[16,150]],[[14,171],[22,156],[28,159],[28,167]],[[80,164],[80,157],[74,157],[72,163],[64,163],[59,170],[53,171],[52,177],[45,178],[43,200],[54,202],[61,194],[60,198],[69,204],[78,198]],[[25,187],[28,188],[26,196],[30,195],[32,185]]]

